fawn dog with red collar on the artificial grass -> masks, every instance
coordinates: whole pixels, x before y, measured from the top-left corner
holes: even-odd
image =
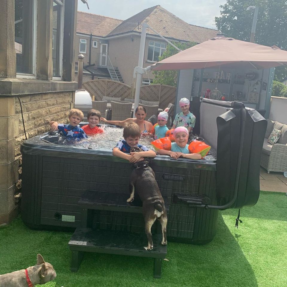
[[[0,275],[0,287],[33,287],[54,280],[55,277],[56,271],[53,266],[38,254],[37,265]]]

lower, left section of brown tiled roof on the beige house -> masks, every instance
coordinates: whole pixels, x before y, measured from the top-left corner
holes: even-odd
[[[123,20],[78,11],[77,33],[92,33],[94,36],[104,37],[115,29],[121,22],[123,22]]]

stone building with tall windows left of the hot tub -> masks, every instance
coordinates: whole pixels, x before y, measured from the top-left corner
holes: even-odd
[[[74,107],[77,2],[0,0],[0,224],[18,213],[20,144]]]

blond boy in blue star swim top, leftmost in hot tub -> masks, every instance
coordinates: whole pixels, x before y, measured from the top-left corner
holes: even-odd
[[[59,130],[62,135],[68,138],[88,138],[83,129],[80,128],[79,123],[83,120],[84,114],[78,109],[71,109],[69,114],[69,125],[51,121],[49,125],[53,131]]]

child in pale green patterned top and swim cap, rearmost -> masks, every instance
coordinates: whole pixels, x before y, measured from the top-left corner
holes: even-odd
[[[179,106],[182,112],[175,116],[172,129],[175,129],[178,126],[184,126],[187,128],[188,132],[192,132],[196,119],[195,116],[189,111],[189,100],[187,98],[180,99]]]

